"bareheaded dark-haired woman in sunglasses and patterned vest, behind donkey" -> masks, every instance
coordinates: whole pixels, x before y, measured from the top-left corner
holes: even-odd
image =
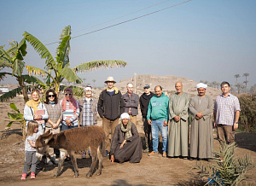
[[[62,110],[61,105],[58,104],[58,97],[55,93],[55,90],[46,91],[46,102],[44,102],[47,113],[49,114],[49,119],[45,124],[45,132],[51,131],[53,134],[60,133],[61,131],[61,119],[62,119]],[[55,164],[58,164],[56,160],[56,155],[54,153],[54,148],[49,148],[49,158]],[[52,162],[47,157],[46,163],[52,165]]]

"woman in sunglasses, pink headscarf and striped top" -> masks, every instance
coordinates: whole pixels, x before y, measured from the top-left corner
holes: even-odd
[[[61,131],[73,129],[79,125],[79,102],[73,98],[73,90],[64,90],[65,97],[61,100],[63,117],[61,120]]]

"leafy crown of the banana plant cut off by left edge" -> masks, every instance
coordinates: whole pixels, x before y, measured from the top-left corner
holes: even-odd
[[[22,75],[23,69],[25,67],[25,62],[23,57],[26,56],[26,40],[23,38],[20,44],[17,42],[9,42],[11,45],[10,49],[4,50],[3,46],[0,47],[0,70],[4,67],[12,69],[12,73],[3,72],[0,73],[0,80],[10,75],[16,78],[20,87],[15,90],[11,90],[2,96],[0,96],[0,101],[6,101],[9,98],[15,97],[17,94],[21,94],[24,97],[24,101],[28,101],[27,88],[25,83],[38,82],[38,84],[43,84],[38,78],[29,75]]]

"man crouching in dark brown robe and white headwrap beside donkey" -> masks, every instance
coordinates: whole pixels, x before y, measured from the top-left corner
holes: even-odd
[[[110,160],[113,163],[139,163],[143,157],[143,146],[136,125],[131,123],[128,113],[122,113],[121,123],[115,127],[110,148]]]

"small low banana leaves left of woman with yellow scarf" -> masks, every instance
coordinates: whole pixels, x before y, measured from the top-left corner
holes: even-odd
[[[20,123],[21,131],[24,137],[26,129],[26,120],[24,119],[23,114],[20,113],[20,110],[15,106],[15,103],[10,103],[9,107],[12,108],[15,111],[15,113],[8,113],[8,116],[10,119],[13,119],[15,121],[10,121],[7,126],[10,127],[14,122]]]

